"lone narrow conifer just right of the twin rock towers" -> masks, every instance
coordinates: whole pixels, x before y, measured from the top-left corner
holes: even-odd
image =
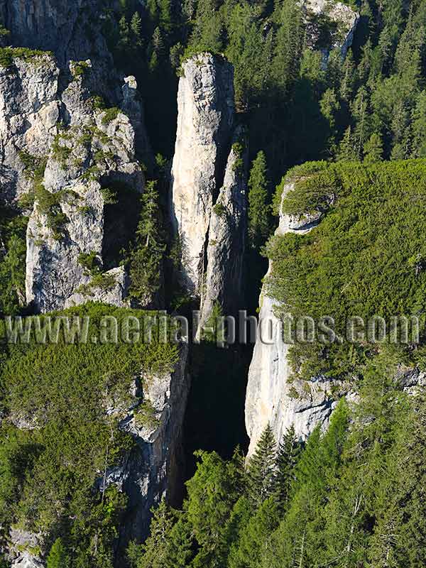
[[[268,185],[266,157],[260,151],[253,160],[249,178],[249,238],[253,249],[260,249],[271,232]]]

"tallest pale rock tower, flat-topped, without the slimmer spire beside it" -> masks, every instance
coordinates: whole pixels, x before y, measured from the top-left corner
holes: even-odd
[[[172,222],[182,250],[182,285],[202,292],[209,226],[234,132],[234,77],[223,58],[200,53],[182,65],[172,168]]]

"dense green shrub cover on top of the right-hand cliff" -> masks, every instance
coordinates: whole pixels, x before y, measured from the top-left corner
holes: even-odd
[[[307,235],[274,236],[266,247],[273,261],[266,280],[278,312],[293,317],[332,317],[338,338],[346,322],[381,317],[392,340],[392,317],[425,317],[426,160],[308,163],[287,178],[295,189],[283,197],[285,214],[322,210],[324,219]],[[279,190],[280,191],[280,190]],[[409,338],[411,341],[411,337]],[[354,372],[380,349],[368,340],[324,344],[296,342],[295,371],[310,378]]]

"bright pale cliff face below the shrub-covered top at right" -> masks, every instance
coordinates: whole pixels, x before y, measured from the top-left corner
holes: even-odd
[[[293,190],[294,182],[288,182],[283,196]],[[306,234],[320,221],[315,217],[290,217],[280,213],[280,224],[275,234],[289,232]],[[271,271],[271,266],[269,268]],[[326,427],[337,401],[332,397],[332,382],[321,377],[300,381],[291,377],[288,350],[290,345],[283,338],[283,326],[275,315],[274,300],[263,286],[259,305],[258,336],[249,370],[246,393],[246,430],[250,437],[249,455],[256,448],[258,439],[268,423],[275,439],[279,440],[290,425],[295,434],[305,439],[317,424]],[[333,382],[334,392],[336,383]]]

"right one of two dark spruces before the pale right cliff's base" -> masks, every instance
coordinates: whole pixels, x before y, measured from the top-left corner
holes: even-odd
[[[294,470],[300,456],[300,444],[295,437],[293,424],[288,428],[278,447],[276,458],[276,498],[280,510],[285,510],[290,501]]]

